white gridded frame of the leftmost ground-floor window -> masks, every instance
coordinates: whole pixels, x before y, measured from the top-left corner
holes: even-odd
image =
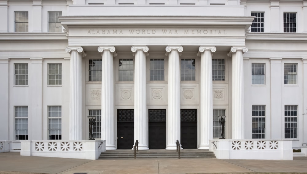
[[[22,107],[25,107],[25,115],[26,115],[26,117],[16,117],[16,108],[21,108],[22,109]],[[16,127],[17,127],[17,119],[25,119],[25,122],[27,122],[27,123],[25,123],[25,129],[17,129]],[[23,124],[21,124],[21,127],[23,127]],[[23,136],[23,135],[25,135],[25,139],[17,139],[17,130],[21,130],[21,132],[23,132],[23,130],[27,133],[27,134],[18,134],[18,136],[19,135],[21,135],[21,136]],[[17,140],[17,141],[19,141],[19,140],[28,140],[29,139],[29,107],[28,106],[14,106],[14,140]]]

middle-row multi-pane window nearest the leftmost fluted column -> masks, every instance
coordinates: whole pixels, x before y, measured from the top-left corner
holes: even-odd
[[[62,64],[48,64],[48,85],[62,84]]]

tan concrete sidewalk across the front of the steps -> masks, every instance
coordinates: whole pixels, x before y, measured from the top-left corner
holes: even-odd
[[[16,152],[0,153],[0,174],[12,172],[49,174],[307,173],[307,157],[293,157],[293,161],[219,160],[216,158],[83,160],[25,157]]]

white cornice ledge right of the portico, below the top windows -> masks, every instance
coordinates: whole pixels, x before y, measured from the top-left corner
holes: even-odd
[[[246,41],[307,41],[307,33],[248,33]]]

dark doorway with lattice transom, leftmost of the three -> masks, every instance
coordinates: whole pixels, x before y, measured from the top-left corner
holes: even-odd
[[[117,149],[134,145],[134,109],[117,109]]]

